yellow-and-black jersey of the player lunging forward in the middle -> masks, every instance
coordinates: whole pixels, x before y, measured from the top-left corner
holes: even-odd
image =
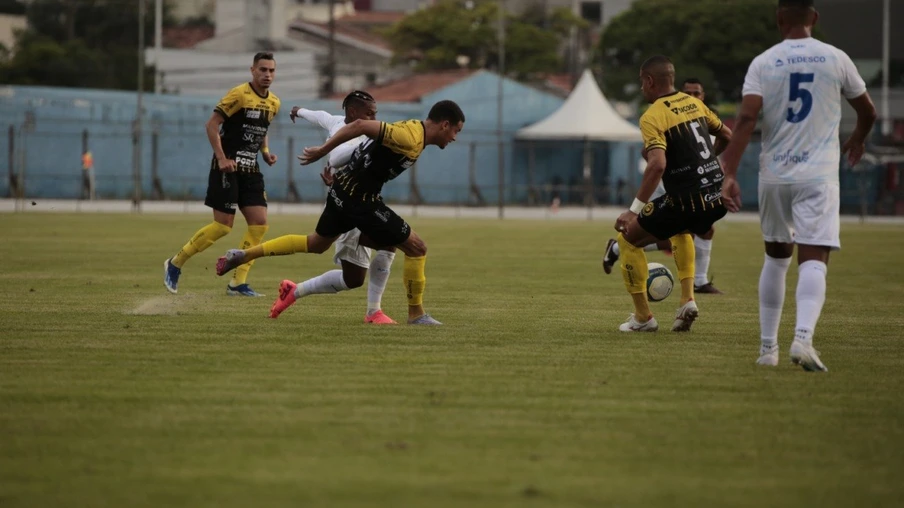
[[[336,183],[352,197],[375,200],[383,184],[417,162],[424,151],[424,123],[404,120],[380,123],[380,134],[358,145]]]

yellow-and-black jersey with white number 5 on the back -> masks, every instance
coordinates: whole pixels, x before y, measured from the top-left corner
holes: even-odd
[[[721,184],[722,166],[711,133],[722,121],[702,101],[683,92],[664,95],[640,117],[644,153],[665,150],[662,185],[667,194],[693,192]]]

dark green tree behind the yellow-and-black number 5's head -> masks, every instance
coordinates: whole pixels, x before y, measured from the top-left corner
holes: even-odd
[[[708,100],[738,100],[751,60],[780,39],[775,0],[638,0],[600,39],[603,89],[613,99],[638,99],[640,64],[664,54],[679,82],[694,76]]]

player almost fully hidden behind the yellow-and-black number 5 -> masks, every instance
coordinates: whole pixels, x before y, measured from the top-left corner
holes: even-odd
[[[684,83],[681,85],[681,91],[690,95],[691,97],[700,99],[704,103],[706,102],[706,91],[703,90],[703,83],[701,83],[697,78],[685,79]],[[722,150],[725,149],[725,145],[722,144],[722,140],[716,138],[715,136],[710,136],[710,140],[713,142],[713,147],[715,148],[716,153],[722,153]],[[647,167],[647,161],[640,159],[638,161],[638,164],[639,165],[637,169],[638,171],[640,171],[640,174],[643,174]],[[663,194],[665,194],[665,187],[662,186],[662,181],[660,181],[659,185],[656,187],[656,190],[653,191],[653,195],[650,196],[650,199],[656,199]],[[715,234],[716,229],[715,227],[712,227],[705,234],[699,236],[694,235],[694,294],[724,294],[716,286],[714,286],[712,281],[709,279],[709,261],[710,254],[712,252],[713,236]],[[665,252],[667,255],[671,255],[672,244],[668,240],[663,240],[647,245],[646,247],[644,247],[644,250],[660,250]],[[612,273],[612,267],[618,261],[620,254],[621,252],[618,248],[618,242],[616,242],[614,238],[610,238],[609,243],[606,244],[605,254],[603,255],[603,271],[606,272],[606,274]]]

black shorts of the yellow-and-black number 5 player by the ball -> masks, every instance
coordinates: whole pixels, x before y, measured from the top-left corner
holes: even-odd
[[[712,228],[728,210],[722,204],[722,190],[709,187],[693,193],[659,196],[637,217],[640,226],[659,240],[690,231],[700,236]]]

